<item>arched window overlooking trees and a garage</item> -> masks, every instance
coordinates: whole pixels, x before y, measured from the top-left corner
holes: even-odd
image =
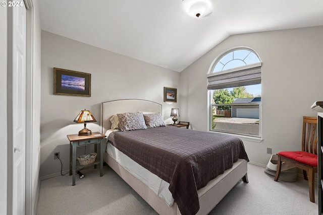
[[[261,61],[249,48],[229,50],[210,66],[210,130],[261,136]]]

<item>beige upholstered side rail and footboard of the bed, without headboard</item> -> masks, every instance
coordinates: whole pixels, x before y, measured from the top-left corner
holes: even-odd
[[[181,214],[176,202],[169,207],[165,200],[158,197],[141,180],[129,173],[109,154],[104,152],[103,160],[107,163],[127,184],[129,184],[157,213],[161,215]],[[247,161],[239,159],[231,169],[226,170],[217,178],[209,181],[207,185],[197,191],[200,209],[197,214],[208,214],[226,194],[247,174]]]

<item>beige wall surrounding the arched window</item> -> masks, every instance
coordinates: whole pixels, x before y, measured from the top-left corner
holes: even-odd
[[[302,116],[323,100],[323,26],[230,36],[180,74],[181,117],[208,130],[206,74],[218,55],[234,47],[255,50],[262,61],[262,138],[244,140],[250,161],[266,165],[270,155],[301,150]],[[183,111],[184,109],[185,112]]]

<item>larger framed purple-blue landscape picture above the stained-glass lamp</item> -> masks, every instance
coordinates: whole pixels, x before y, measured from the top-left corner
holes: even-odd
[[[54,94],[91,96],[91,74],[54,67]]]

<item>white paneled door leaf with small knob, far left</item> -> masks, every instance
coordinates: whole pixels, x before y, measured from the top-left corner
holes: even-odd
[[[25,214],[26,8],[12,10],[12,214]]]

